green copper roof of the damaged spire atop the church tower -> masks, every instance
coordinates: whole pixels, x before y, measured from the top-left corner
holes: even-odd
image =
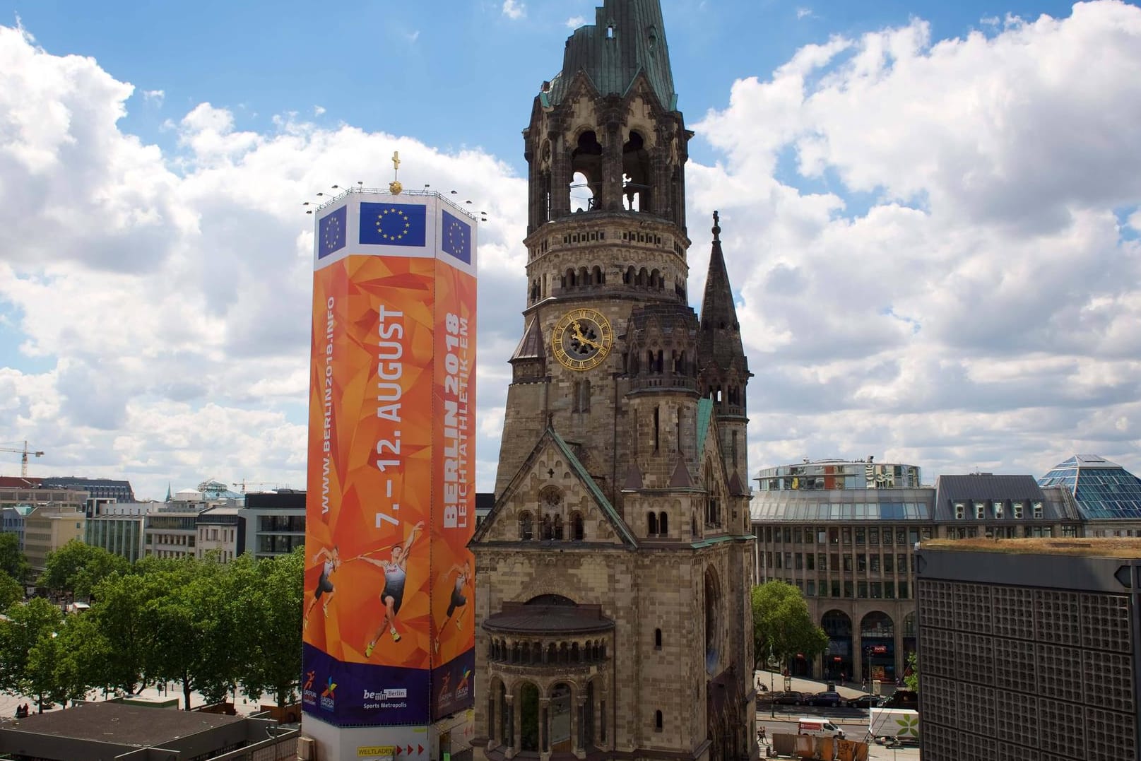
[[[678,96],[658,0],[605,0],[596,8],[594,24],[580,26],[567,39],[563,71],[551,81],[544,105],[561,103],[580,71],[601,95],[620,96],[644,72],[662,107],[675,111]]]

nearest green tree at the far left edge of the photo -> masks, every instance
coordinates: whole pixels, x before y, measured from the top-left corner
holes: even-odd
[[[58,655],[55,640],[63,629],[63,614],[38,597],[11,606],[7,615],[7,621],[0,621],[0,690],[35,696],[42,713],[59,698],[46,673]]]

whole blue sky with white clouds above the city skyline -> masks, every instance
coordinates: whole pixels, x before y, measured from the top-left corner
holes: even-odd
[[[594,5],[0,0],[0,447],[140,497],[304,488],[302,203],[387,184],[399,151],[406,187],[487,214],[491,491],[526,299],[520,132]],[[696,132],[689,293],[720,210],[754,473],[1042,476],[1074,453],[1141,472],[1141,8],[662,6]]]

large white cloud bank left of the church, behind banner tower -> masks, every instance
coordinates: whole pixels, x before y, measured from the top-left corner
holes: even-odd
[[[23,197],[0,208],[0,307],[18,351],[50,366],[0,366],[0,411],[48,453],[40,473],[126,477],[155,497],[208,476],[304,487],[301,202],[370,179],[361,168],[393,151],[415,181],[488,212],[482,283],[524,293],[524,184],[493,156],[296,114],[259,133],[209,103],[172,122],[177,151],[163,153],[119,129],[132,91],[90,58],[0,27],[0,187]],[[482,345],[513,345],[496,338],[516,331],[508,306],[482,305]],[[502,406],[504,391],[488,383],[478,402]]]

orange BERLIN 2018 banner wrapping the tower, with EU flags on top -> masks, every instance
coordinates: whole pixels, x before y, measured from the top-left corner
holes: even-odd
[[[339,726],[471,705],[475,236],[418,201],[318,222],[302,706]]]

